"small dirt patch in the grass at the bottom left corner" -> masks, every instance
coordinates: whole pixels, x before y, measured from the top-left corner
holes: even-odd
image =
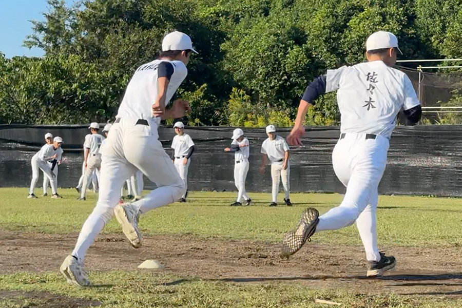
[[[0,290],[0,302],[7,300],[10,303],[21,305],[24,308],[84,308],[100,306],[101,302],[54,295],[47,292],[20,292]]]

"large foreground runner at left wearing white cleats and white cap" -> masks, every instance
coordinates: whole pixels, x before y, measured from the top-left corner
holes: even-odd
[[[89,284],[83,268],[85,253],[112,215],[137,248],[141,246],[138,215],[175,202],[183,194],[184,182],[158,140],[158,126],[161,119],[180,119],[190,110],[183,100],[165,107],[186,78],[191,52],[196,51],[189,36],[171,32],[164,37],[159,59],[140,66],[128,83],[104,144],[98,203],[85,221],[72,255],[60,268],[69,283]],[[120,188],[137,169],[158,188],[139,201],[118,205]]]

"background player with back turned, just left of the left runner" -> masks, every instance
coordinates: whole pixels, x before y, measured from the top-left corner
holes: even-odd
[[[90,180],[91,174],[94,170],[99,171],[101,168],[100,147],[103,143],[104,137],[98,133],[98,131],[100,130],[100,125],[98,123],[93,122],[90,124],[90,127],[88,128],[90,129],[91,135],[88,138],[84,152],[85,177],[82,184],[80,198],[78,198],[79,200],[85,200],[85,195],[87,192],[88,182]]]

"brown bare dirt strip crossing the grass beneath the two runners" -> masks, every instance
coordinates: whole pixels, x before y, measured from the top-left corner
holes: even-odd
[[[0,275],[57,271],[77,234],[43,235],[0,230]],[[86,257],[90,271],[141,271],[146,259],[165,265],[162,271],[190,279],[255,283],[294,281],[310,288],[344,288],[356,293],[395,292],[406,295],[462,296],[460,247],[386,247],[398,264],[395,271],[365,278],[362,247],[306,243],[288,260],[274,243],[202,239],[195,236],[152,236],[132,248],[123,235],[100,236]],[[90,273],[91,278],[91,273]],[[189,278],[166,281],[187,283]],[[6,294],[4,294],[6,295]]]

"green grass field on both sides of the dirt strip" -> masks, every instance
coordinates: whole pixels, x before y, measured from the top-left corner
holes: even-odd
[[[89,192],[87,201],[81,202],[75,200],[75,190],[61,189],[60,194],[65,199],[33,200],[26,199],[26,188],[1,188],[0,233],[2,230],[63,235],[79,232],[95,204],[94,195]],[[316,207],[324,213],[342,199],[336,194],[293,194],[291,200],[295,206],[268,207],[270,194],[250,194],[252,206],[229,207],[235,195],[233,192],[191,192],[187,203],[175,203],[142,216],[143,235],[188,234],[200,238],[278,242],[284,232],[294,227],[305,207]],[[380,245],[457,249],[462,245],[460,203],[460,199],[381,196],[377,212]],[[120,233],[120,227],[113,219],[103,232]],[[316,235],[313,241],[361,245],[355,226]],[[239,284],[164,273],[140,274],[117,268],[92,273],[91,278],[97,286],[77,288],[68,285],[57,272],[18,272],[0,276],[0,290],[48,292],[71,299],[100,301],[104,307],[131,308],[330,306],[315,303],[315,298],[340,302],[342,307],[462,306],[458,297],[396,295],[389,290],[383,295],[368,295],[349,292],[348,288],[312,289],[297,281]],[[188,282],[168,283],[180,279]],[[0,291],[0,307],[53,307],[41,298],[2,294]]]

